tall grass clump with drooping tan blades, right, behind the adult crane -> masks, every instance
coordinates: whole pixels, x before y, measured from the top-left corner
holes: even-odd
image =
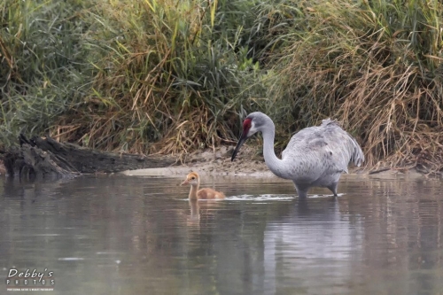
[[[359,138],[369,166],[383,159],[440,170],[442,4],[335,0],[290,6],[303,13],[284,36],[284,51],[273,57],[278,75],[270,94],[283,131],[332,116]]]

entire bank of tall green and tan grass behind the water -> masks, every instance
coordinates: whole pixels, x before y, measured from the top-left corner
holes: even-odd
[[[4,147],[23,132],[182,153],[235,141],[262,111],[278,147],[333,117],[369,166],[443,168],[437,0],[4,0],[0,13]]]

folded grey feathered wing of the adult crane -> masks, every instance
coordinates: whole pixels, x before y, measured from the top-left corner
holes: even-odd
[[[340,128],[335,120],[323,120],[321,126],[304,128],[292,136],[282,159],[303,157],[322,160],[324,165],[347,173],[349,162],[360,166],[363,151],[353,136]]]

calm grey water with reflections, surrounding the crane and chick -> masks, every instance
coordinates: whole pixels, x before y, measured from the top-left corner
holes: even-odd
[[[192,203],[181,181],[0,179],[0,294],[443,294],[441,181],[345,175],[303,202],[206,178],[228,198]],[[6,285],[12,268],[46,284]]]

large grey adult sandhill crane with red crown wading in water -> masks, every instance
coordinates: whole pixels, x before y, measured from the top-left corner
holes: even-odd
[[[255,133],[263,134],[263,156],[269,170],[278,177],[290,179],[295,184],[299,198],[307,198],[310,187],[326,187],[337,196],[340,175],[347,173],[347,165],[353,161],[360,166],[364,161],[363,151],[335,120],[323,120],[321,126],[304,128],[292,136],[282,152],[276,157],[274,122],[264,113],[250,113],[243,121],[243,133],[231,160],[236,158],[240,147]]]

